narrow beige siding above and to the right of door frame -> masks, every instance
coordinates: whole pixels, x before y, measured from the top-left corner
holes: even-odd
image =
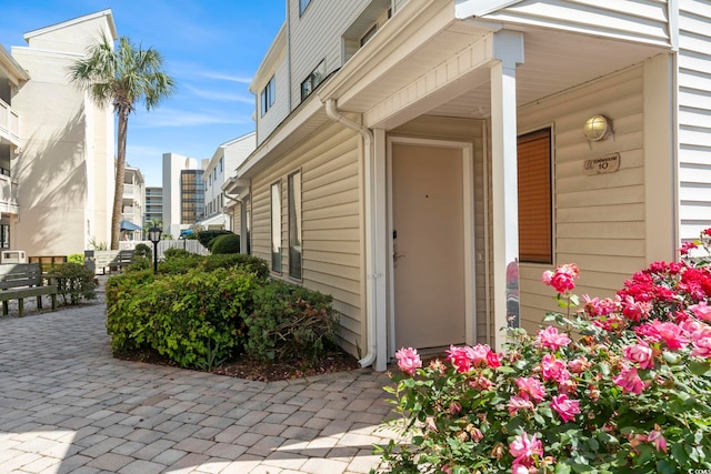
[[[475,260],[475,312],[477,342],[493,343],[488,323],[487,268],[483,255],[487,251],[485,200],[484,200],[484,122],[473,119],[445,117],[419,117],[389,132],[390,135],[433,140],[465,141],[473,144],[474,159],[474,260]],[[481,256],[481,258],[479,258]]]

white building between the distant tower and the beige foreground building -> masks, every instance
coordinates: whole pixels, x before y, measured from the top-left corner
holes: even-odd
[[[239,222],[234,222],[231,208],[236,203],[222,190],[226,180],[237,167],[254,151],[257,133],[251,132],[218,147],[202,175],[204,183],[204,219],[198,222],[203,229],[224,229],[240,233]],[[239,215],[239,214],[238,214]]]

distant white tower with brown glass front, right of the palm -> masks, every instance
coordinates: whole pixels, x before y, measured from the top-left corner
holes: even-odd
[[[163,153],[163,233],[173,238],[203,218],[207,160]]]

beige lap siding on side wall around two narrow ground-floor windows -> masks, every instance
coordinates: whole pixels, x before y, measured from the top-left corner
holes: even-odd
[[[309,7],[310,9],[311,7]],[[357,354],[365,347],[362,265],[362,202],[360,138],[328,123],[309,140],[292,149],[252,179],[252,253],[269,261],[270,185],[282,184],[282,248],[288,249],[287,177],[301,170],[302,178],[302,280],[289,275],[289,259],[282,252],[287,281],[333,296],[341,315],[343,347]]]

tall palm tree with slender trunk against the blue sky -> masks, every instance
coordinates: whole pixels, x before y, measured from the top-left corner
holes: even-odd
[[[162,71],[162,67],[163,57],[154,49],[137,47],[121,37],[114,50],[113,42],[102,34],[96,44],[89,47],[86,57],[74,61],[69,69],[71,82],[87,91],[96,104],[113,105],[119,118],[111,250],[119,248],[129,115],[139,101],[144,103],[146,110],[151,110],[173,92],[173,80]]]

